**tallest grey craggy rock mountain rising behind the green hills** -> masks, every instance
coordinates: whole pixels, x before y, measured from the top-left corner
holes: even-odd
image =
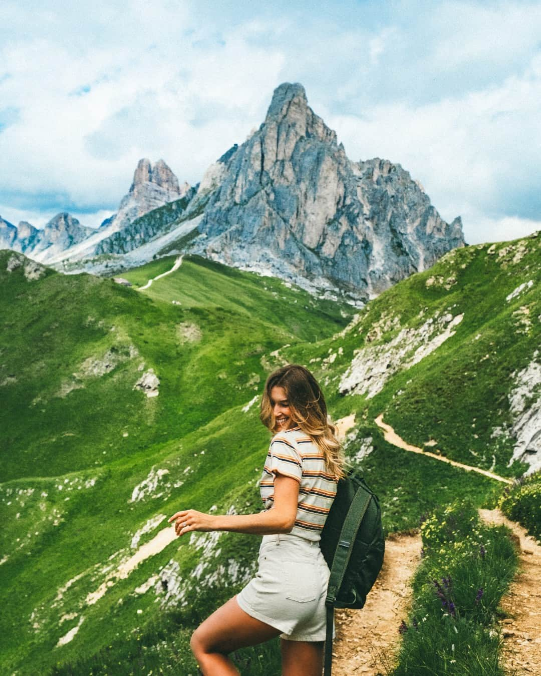
[[[210,174],[191,250],[233,266],[369,298],[464,245],[460,217],[442,220],[400,164],[348,160],[300,84]]]

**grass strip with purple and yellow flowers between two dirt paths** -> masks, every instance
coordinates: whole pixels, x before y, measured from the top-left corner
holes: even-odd
[[[421,525],[423,561],[402,621],[393,676],[504,676],[497,619],[518,565],[507,528],[486,527],[469,500],[433,510]]]

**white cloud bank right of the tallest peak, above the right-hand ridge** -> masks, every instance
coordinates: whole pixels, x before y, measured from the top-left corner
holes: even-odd
[[[425,105],[383,103],[362,118],[329,114],[327,122],[350,158],[401,164],[421,181],[442,218],[463,217],[465,237],[473,242],[479,241],[481,221],[498,223],[498,232],[506,224],[511,232],[518,222],[529,222],[511,214],[524,208],[521,196],[538,192],[539,101],[537,54],[521,76],[498,86]],[[483,213],[493,216],[482,219]]]

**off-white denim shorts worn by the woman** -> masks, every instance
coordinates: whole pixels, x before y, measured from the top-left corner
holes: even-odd
[[[280,629],[280,638],[325,641],[330,575],[319,542],[287,533],[263,535],[256,577],[237,594],[237,602],[244,612]]]

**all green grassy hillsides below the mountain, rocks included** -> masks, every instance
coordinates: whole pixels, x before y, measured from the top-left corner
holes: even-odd
[[[137,291],[174,257],[124,274],[126,288],[1,251],[2,671],[195,676],[189,634],[250,579],[259,538],[172,539],[166,518],[260,510],[258,395],[286,361],[313,370],[334,419],[356,415],[346,451],[387,532],[457,495],[494,506],[501,483],[399,450],[373,420],[523,473],[510,464],[517,401],[538,388],[513,393],[540,343],[540,253],[538,235],[457,249],[352,319],[350,306],[196,257]],[[149,369],[157,396],[134,389],[144,374],[152,385]],[[239,660],[264,673],[276,645]]]

